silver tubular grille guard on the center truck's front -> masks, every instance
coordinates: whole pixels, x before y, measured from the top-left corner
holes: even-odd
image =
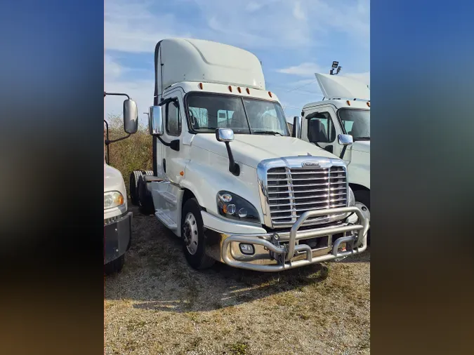
[[[360,231],[358,235],[354,233],[351,236],[343,236],[336,239],[332,246],[331,254],[321,255],[318,257],[312,256],[312,250],[310,246],[306,244],[296,245],[296,234],[298,229],[303,225],[303,222],[310,217],[318,217],[320,215],[327,215],[328,213],[355,213],[359,217],[359,224],[357,225],[346,225],[340,227],[334,227],[332,229],[315,229],[308,237],[324,236],[327,234],[338,234],[343,232],[355,232]],[[364,217],[362,210],[355,206],[341,207],[341,208],[328,208],[324,210],[310,210],[303,213],[298,220],[291,227],[289,242],[287,245],[277,246],[270,241],[259,238],[258,236],[245,236],[245,235],[230,235],[226,238],[221,247],[221,255],[225,264],[232,267],[238,267],[240,269],[251,269],[260,272],[279,272],[286,269],[294,269],[295,267],[301,267],[308,264],[315,264],[317,262],[324,262],[328,260],[338,259],[340,257],[347,257],[349,255],[355,255],[362,253],[367,249],[367,231],[369,230],[369,220]],[[241,262],[235,260],[229,250],[230,243],[249,243],[257,244],[267,248],[270,253],[277,255],[284,255],[284,262],[278,264],[265,265],[265,264],[252,264],[251,262]],[[338,253],[338,247],[341,243],[353,243],[352,250]],[[291,261],[297,253],[306,253],[305,260]]]

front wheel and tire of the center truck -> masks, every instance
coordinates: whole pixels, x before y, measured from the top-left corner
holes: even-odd
[[[216,260],[206,255],[204,244],[204,223],[201,208],[196,199],[189,199],[181,214],[181,235],[183,251],[187,262],[193,269],[202,270],[211,267]]]

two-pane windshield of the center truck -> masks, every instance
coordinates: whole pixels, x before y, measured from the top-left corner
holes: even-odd
[[[232,128],[235,134],[289,135],[287,119],[278,102],[191,93],[187,107],[190,125],[197,133]]]

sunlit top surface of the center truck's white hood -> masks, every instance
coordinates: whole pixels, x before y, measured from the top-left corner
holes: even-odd
[[[216,140],[213,133],[199,133],[192,140],[192,145],[227,157],[223,142]],[[230,142],[234,159],[256,168],[264,159],[282,158],[284,156],[324,156],[337,159],[337,156],[311,143],[298,138],[280,135],[235,135]]]

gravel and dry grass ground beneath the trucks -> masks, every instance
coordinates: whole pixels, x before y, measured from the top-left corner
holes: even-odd
[[[257,273],[191,269],[180,240],[133,210],[133,244],[105,278],[105,354],[369,354],[370,251]]]

